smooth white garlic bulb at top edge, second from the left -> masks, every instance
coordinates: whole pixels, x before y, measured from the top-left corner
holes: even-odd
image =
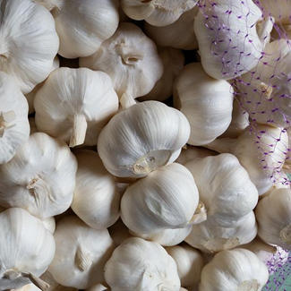
[[[58,53],[67,58],[90,56],[118,27],[117,0],[36,0],[54,15],[60,37]]]

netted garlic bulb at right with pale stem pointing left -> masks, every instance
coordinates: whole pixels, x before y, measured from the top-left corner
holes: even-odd
[[[218,139],[206,147],[218,152],[231,152],[247,170],[259,195],[267,193],[287,158],[286,130],[268,125],[255,125],[237,139]]]

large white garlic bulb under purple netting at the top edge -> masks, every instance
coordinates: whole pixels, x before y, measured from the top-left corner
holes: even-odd
[[[215,79],[233,79],[258,64],[269,40],[272,20],[262,21],[260,8],[252,0],[205,2],[194,21],[201,63]]]

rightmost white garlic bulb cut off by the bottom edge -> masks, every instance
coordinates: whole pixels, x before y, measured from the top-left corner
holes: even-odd
[[[268,269],[248,250],[218,252],[201,272],[200,291],[261,291],[269,277]]]

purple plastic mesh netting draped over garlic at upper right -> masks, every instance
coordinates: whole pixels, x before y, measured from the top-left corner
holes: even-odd
[[[198,5],[211,38],[207,62],[219,65],[249,114],[262,171],[273,182],[290,185],[282,167],[285,163],[290,173],[291,145],[281,137],[291,126],[291,0],[200,0]],[[273,136],[258,124],[278,127],[281,133]]]

